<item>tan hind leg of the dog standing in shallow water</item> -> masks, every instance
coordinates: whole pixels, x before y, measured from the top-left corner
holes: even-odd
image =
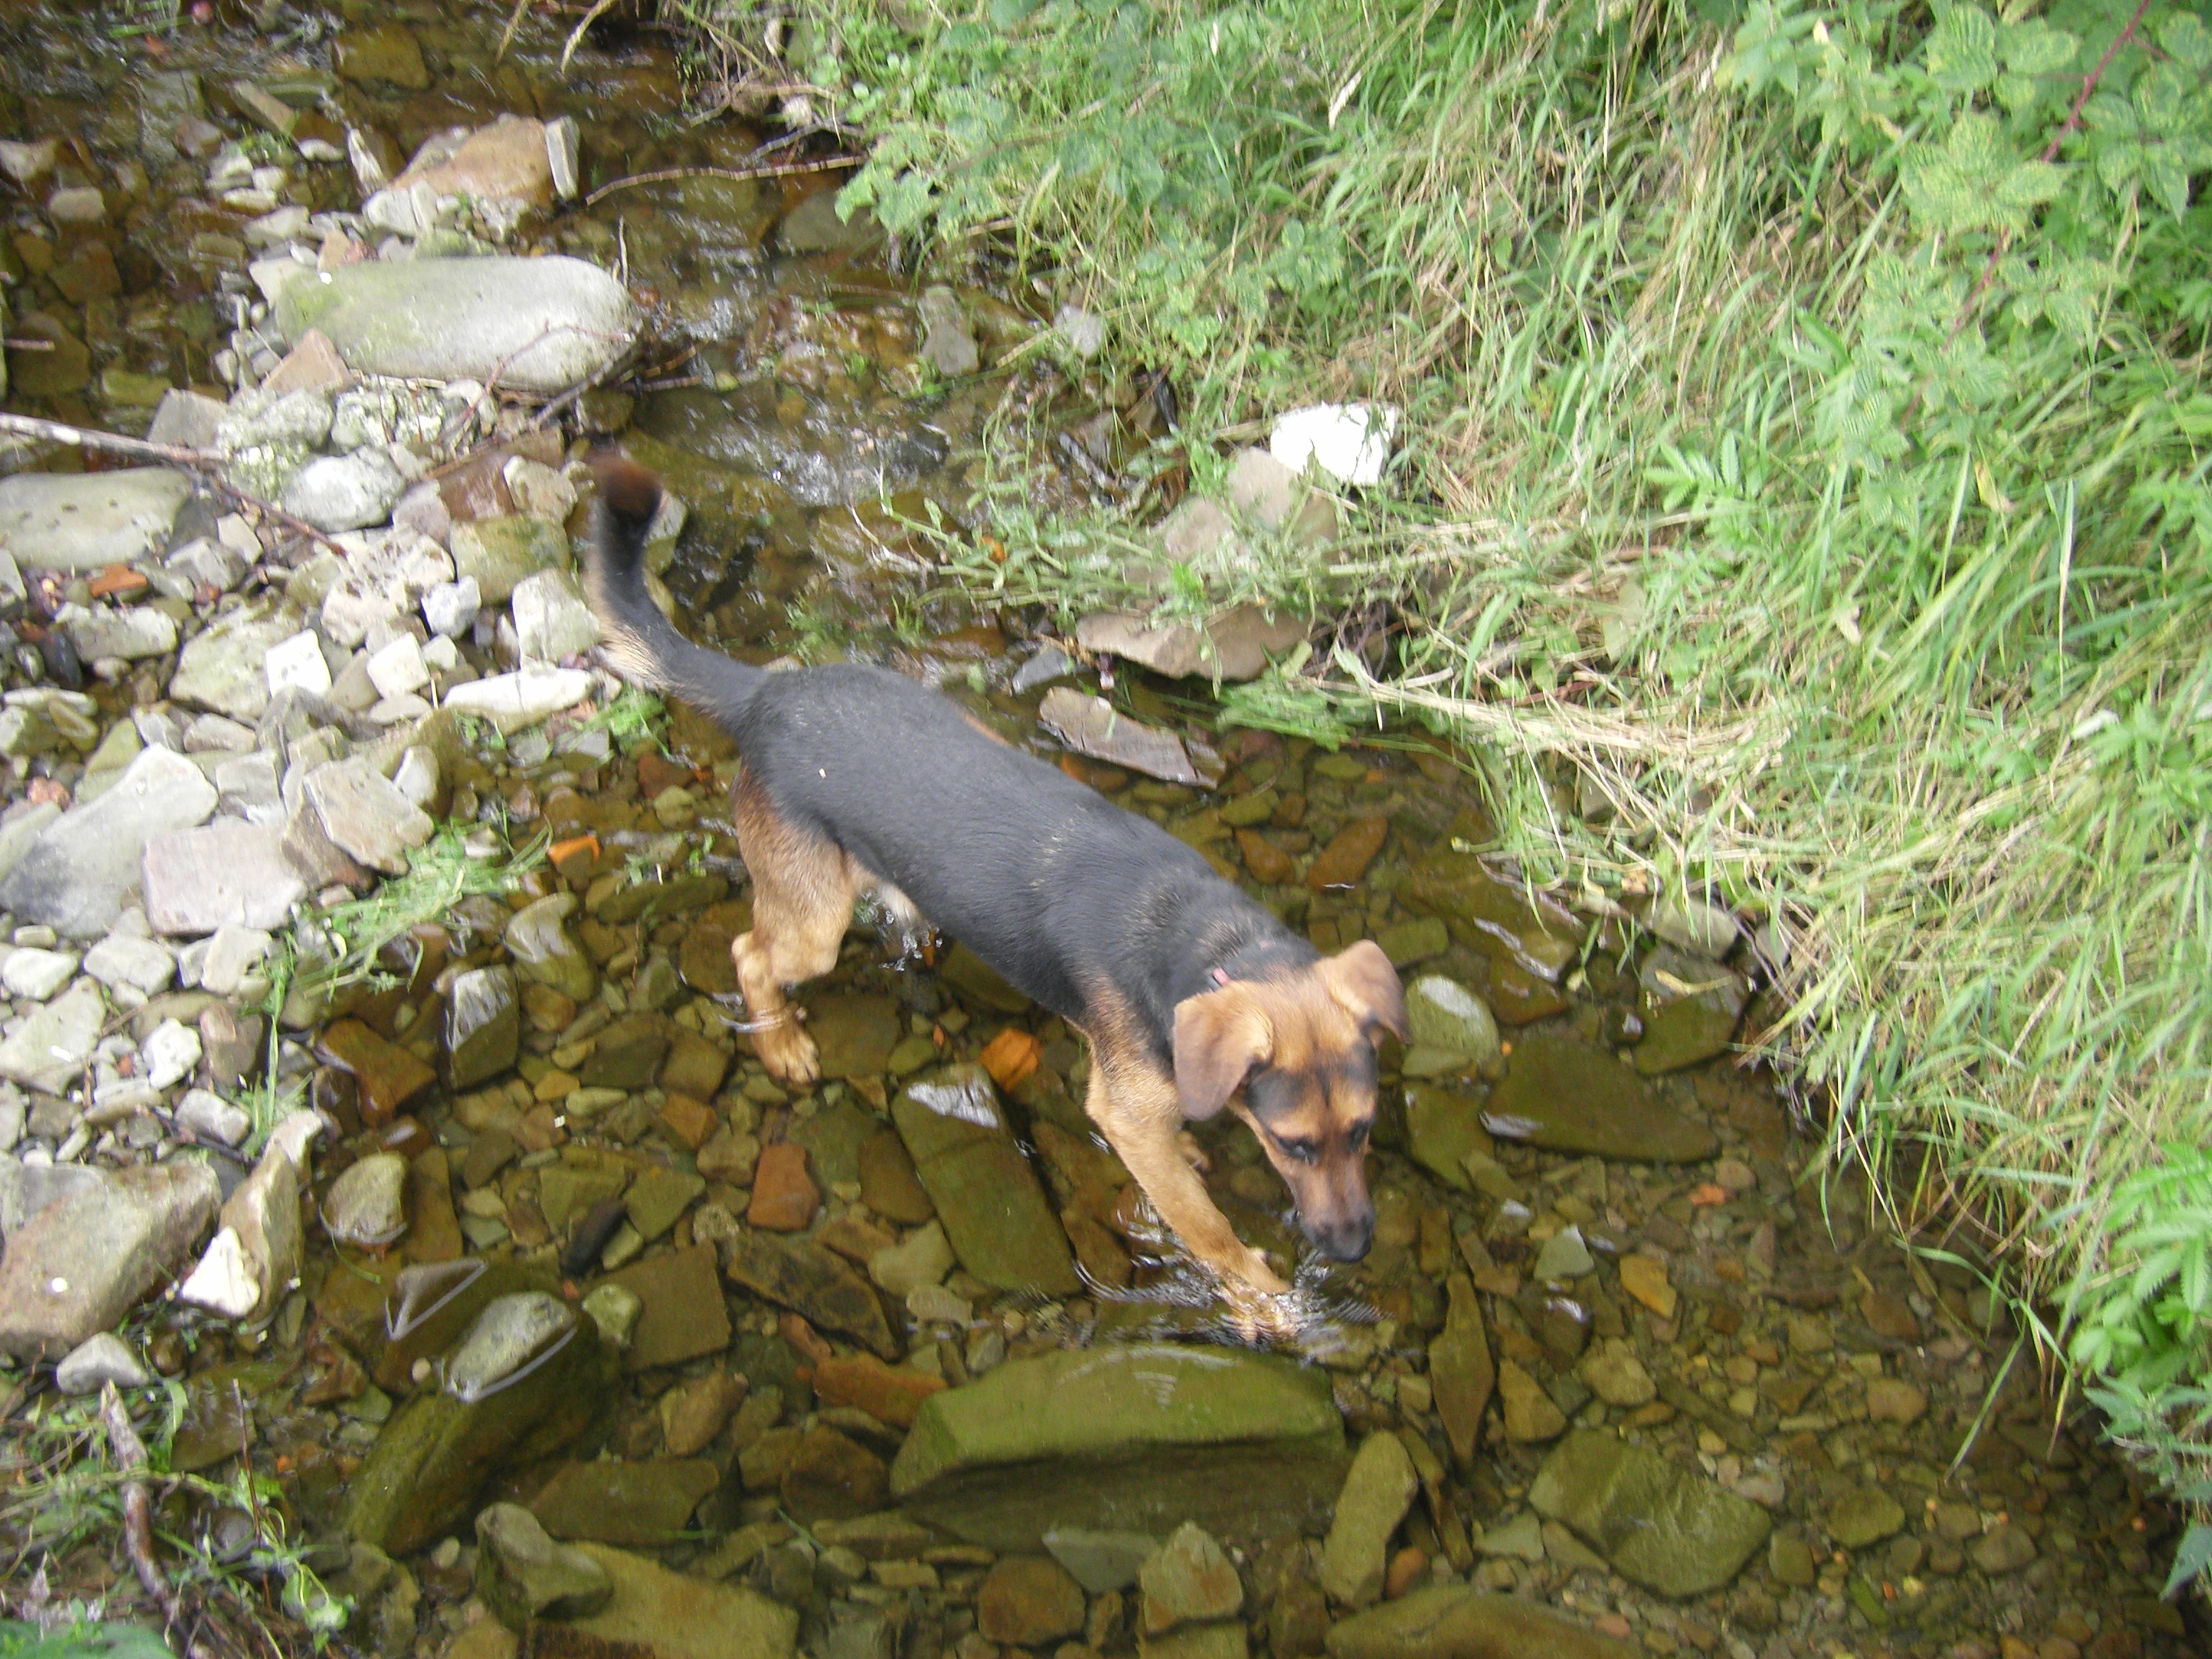
[[[845,852],[776,812],[750,774],[737,785],[737,847],[752,876],[752,931],[730,945],[752,1051],[787,1084],[812,1084],[821,1060],[783,987],[836,967],[852,900],[867,885]]]

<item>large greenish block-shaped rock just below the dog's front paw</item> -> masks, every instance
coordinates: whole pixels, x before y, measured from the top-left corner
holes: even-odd
[[[995,1551],[1055,1526],[1245,1542],[1316,1524],[1345,1473],[1327,1376],[1267,1354],[1128,1345],[1006,1360],[933,1394],[891,1464],[920,1520]]]

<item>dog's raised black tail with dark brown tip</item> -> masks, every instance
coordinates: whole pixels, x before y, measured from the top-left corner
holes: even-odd
[[[661,507],[661,480],[615,451],[593,456],[591,471],[599,482],[599,509],[584,591],[606,633],[606,655],[630,679],[728,723],[763,670],[695,646],[646,593],[646,531]]]

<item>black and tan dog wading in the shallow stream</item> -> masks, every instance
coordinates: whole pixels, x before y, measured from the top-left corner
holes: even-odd
[[[611,659],[714,719],[743,759],[734,821],[752,931],[732,956],[768,1071],[816,1079],[814,1040],[783,991],[836,967],[854,898],[872,891],[1091,1040],[1091,1121],[1232,1301],[1287,1285],[1183,1157],[1183,1121],[1223,1106],[1290,1183],[1305,1237],[1336,1261],[1365,1256],[1374,1037],[1405,1037],[1380,947],[1321,958],[1166,830],[896,672],[765,672],[690,644],[644,584],[659,482],[617,456],[595,471],[588,588]]]

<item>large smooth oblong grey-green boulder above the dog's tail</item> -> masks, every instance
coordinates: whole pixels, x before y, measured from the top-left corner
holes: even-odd
[[[323,330],[361,374],[498,376],[515,392],[553,394],[628,347],[637,307],[622,283],[582,259],[416,259],[288,283],[272,321],[285,338]]]

